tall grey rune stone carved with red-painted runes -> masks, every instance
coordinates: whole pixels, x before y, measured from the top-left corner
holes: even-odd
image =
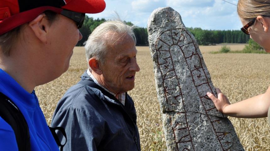
[[[215,88],[180,14],[158,8],[147,27],[168,150],[244,150],[229,119],[206,95],[216,95]]]

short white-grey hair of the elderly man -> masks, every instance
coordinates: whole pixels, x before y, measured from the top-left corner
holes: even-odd
[[[105,55],[107,51],[107,47],[109,44],[113,44],[114,42],[108,42],[107,38],[105,38],[108,32],[114,32],[118,34],[129,34],[136,43],[136,37],[133,32],[135,26],[126,25],[120,19],[118,20],[109,20],[102,24],[100,24],[88,37],[88,40],[85,44],[85,55],[87,62],[90,58],[96,58],[96,60],[104,63]],[[111,38],[113,39],[113,37]]]

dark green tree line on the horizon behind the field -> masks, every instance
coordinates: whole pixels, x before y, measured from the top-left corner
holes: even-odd
[[[85,16],[85,20],[80,32],[83,38],[77,43],[76,46],[83,46],[83,43],[87,40],[88,36],[93,30],[105,22],[102,19],[93,19],[92,17]],[[124,21],[127,25],[133,26],[131,22]],[[215,45],[218,43],[247,43],[250,39],[248,35],[245,35],[241,30],[203,30],[201,28],[187,28],[197,40],[199,45]],[[136,27],[134,29],[136,36],[137,46],[148,46],[148,33],[147,28]]]

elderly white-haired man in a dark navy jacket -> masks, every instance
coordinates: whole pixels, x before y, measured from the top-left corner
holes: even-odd
[[[64,149],[141,150],[134,102],[127,94],[140,70],[132,28],[107,21],[89,36],[90,68],[65,93],[52,118],[51,126],[64,127],[68,135]]]

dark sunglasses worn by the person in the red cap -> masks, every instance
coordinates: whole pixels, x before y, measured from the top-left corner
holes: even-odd
[[[85,13],[78,13],[63,9],[63,11],[60,14],[74,20],[74,22],[76,22],[77,24],[78,29],[82,27],[85,18]]]

